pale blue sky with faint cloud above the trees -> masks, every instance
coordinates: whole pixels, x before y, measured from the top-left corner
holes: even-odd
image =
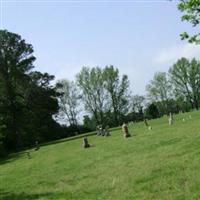
[[[74,80],[83,66],[114,65],[127,74],[133,94],[145,94],[155,72],[200,46],[180,40],[194,32],[181,21],[177,1],[0,0],[1,29],[34,47],[35,70]]]

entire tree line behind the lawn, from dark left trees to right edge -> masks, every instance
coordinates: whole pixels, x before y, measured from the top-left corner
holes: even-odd
[[[87,131],[199,109],[200,61],[179,59],[157,72],[147,95],[132,95],[127,75],[114,66],[83,67],[75,81],[34,71],[33,47],[0,31],[0,152],[16,151]],[[84,113],[84,114],[83,114]],[[82,118],[82,122],[81,122]]]

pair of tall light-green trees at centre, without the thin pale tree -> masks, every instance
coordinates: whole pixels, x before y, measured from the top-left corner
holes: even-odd
[[[118,69],[113,66],[83,67],[77,75],[77,84],[82,91],[86,110],[95,119],[95,124],[122,123],[122,116],[129,110],[129,81],[126,75],[120,80]],[[112,121],[108,115],[112,113]]]

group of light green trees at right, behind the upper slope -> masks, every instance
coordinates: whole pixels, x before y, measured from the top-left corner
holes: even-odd
[[[147,98],[159,113],[168,114],[199,109],[200,61],[180,58],[166,72],[155,73],[146,86]]]

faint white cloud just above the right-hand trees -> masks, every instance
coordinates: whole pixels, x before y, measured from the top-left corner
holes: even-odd
[[[179,58],[200,58],[200,45],[181,44],[161,50],[155,58],[157,64],[173,64]]]

